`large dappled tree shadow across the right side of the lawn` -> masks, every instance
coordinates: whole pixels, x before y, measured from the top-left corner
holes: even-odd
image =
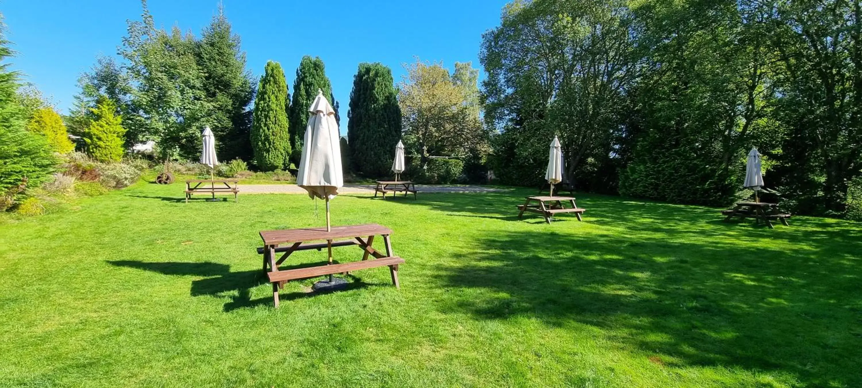
[[[440,274],[445,286],[472,292],[440,309],[586,324],[628,351],[659,354],[667,365],[780,371],[802,385],[862,386],[858,230],[749,229],[778,235],[778,248],[765,248],[721,235],[745,225],[704,225],[700,219],[712,212],[622,207],[619,218],[590,222],[638,222],[640,233],[497,231],[481,238],[473,260]],[[664,222],[645,225],[645,218]],[[700,229],[686,226],[695,223]]]

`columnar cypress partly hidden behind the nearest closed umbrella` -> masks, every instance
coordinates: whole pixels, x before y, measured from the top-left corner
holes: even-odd
[[[315,101],[317,90],[323,95],[332,95],[332,85],[326,77],[323,60],[320,57],[303,57],[297,67],[297,77],[293,80],[293,95],[290,101],[290,146],[294,150],[303,150],[305,127],[309,124],[309,108]],[[335,106],[336,102],[330,101]],[[301,155],[301,154],[300,154]],[[299,163],[294,159],[293,163]]]

